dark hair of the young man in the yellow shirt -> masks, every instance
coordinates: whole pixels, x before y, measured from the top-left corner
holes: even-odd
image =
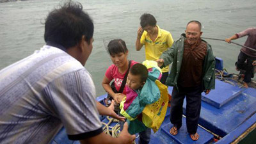
[[[140,16],[140,26],[145,28],[145,26],[156,26],[156,19],[150,13],[144,13]]]

